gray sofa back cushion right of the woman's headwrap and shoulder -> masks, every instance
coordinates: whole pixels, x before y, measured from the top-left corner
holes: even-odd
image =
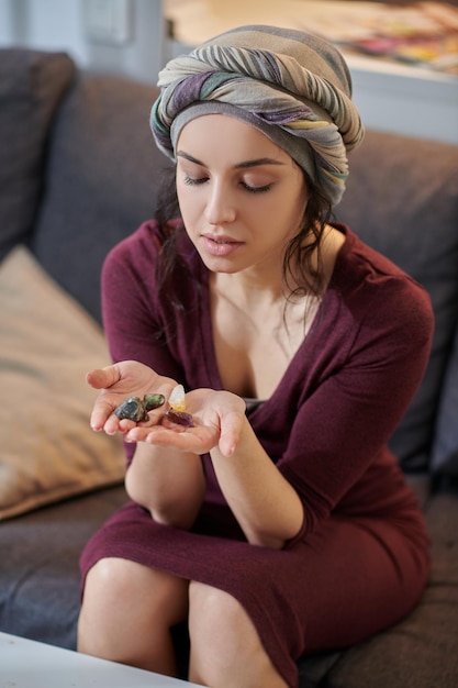
[[[369,132],[349,165],[337,218],[417,279],[432,298],[436,330],[431,360],[391,439],[405,470],[424,470],[457,317],[458,146]]]

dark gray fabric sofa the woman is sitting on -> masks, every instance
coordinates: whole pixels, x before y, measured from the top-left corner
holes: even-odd
[[[81,73],[64,54],[0,51],[0,281],[9,266],[0,285],[7,297],[2,301],[0,295],[0,303],[7,310],[12,299],[9,289],[21,291],[25,284],[23,277],[15,278],[22,268],[11,262],[21,245],[46,278],[69,295],[80,309],[77,317],[89,322],[90,314],[100,330],[103,257],[154,214],[156,190],[168,164],[148,131],[155,93],[152,86]],[[300,685],[453,688],[458,686],[458,148],[368,132],[362,147],[350,157],[350,170],[336,218],[418,279],[435,310],[427,373],[391,440],[417,490],[433,557],[429,584],[407,618],[357,646],[301,658]],[[44,297],[36,298],[33,309],[43,304]],[[46,317],[60,312],[51,300],[44,308]],[[63,309],[63,318],[68,309]],[[1,322],[3,317],[1,312]],[[59,332],[64,320],[56,317],[57,324],[47,325],[40,335],[52,351],[66,334]],[[34,353],[34,341],[29,345]],[[14,373],[10,353],[0,343],[3,392]],[[78,356],[72,354],[71,362],[81,363],[83,369],[87,360]],[[42,377],[35,370],[34,381]],[[82,378],[81,373],[83,385]],[[46,379],[40,388],[43,393]],[[11,429],[14,418],[0,412],[0,446],[12,434],[19,444],[30,435],[33,453],[44,441],[42,425],[32,423],[35,417],[33,408],[29,411],[27,395],[21,399],[15,413],[23,423],[16,433]],[[59,404],[58,393],[54,400]],[[3,407],[7,401],[3,397]],[[68,439],[65,421],[56,432],[52,446],[58,448]],[[103,455],[110,463],[110,450],[104,447]],[[53,466],[71,467],[72,458],[63,450]],[[34,465],[33,460],[31,455],[19,455],[12,464],[9,455],[0,453],[0,485],[5,465],[11,473]],[[97,462],[97,456],[88,460]],[[35,501],[25,500],[18,509],[13,504],[0,517],[1,631],[75,647],[78,557],[91,533],[126,499],[119,460],[113,474],[108,471],[93,482],[79,480],[67,493],[38,495],[46,488],[40,476],[33,476]]]

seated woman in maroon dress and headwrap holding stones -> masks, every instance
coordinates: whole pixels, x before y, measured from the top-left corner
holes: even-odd
[[[81,557],[79,650],[212,688],[298,685],[418,600],[428,540],[387,441],[424,373],[424,290],[329,221],[362,138],[339,53],[230,31],[159,75],[174,195],[109,255],[113,365],[92,428],[124,433],[132,501]],[[175,198],[175,196],[174,196]],[[192,426],[165,415],[183,385]],[[147,421],[133,395],[164,395]],[[177,419],[175,419],[177,420]]]

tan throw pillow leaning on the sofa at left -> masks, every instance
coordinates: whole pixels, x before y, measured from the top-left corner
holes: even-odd
[[[119,435],[94,433],[86,373],[109,362],[98,324],[22,246],[0,266],[0,519],[121,482]]]

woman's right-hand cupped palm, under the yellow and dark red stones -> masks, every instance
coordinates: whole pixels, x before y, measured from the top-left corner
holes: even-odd
[[[136,425],[125,439],[194,454],[205,454],[216,445],[224,456],[234,453],[245,422],[245,402],[241,397],[227,391],[196,389],[186,395],[186,411],[192,414],[192,428],[164,419],[153,428]]]

